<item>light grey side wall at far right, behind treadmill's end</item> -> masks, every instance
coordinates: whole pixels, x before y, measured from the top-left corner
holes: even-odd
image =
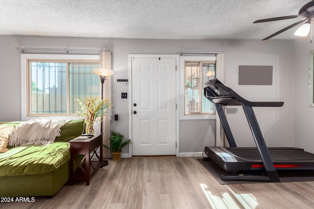
[[[295,41],[295,145],[314,153],[314,107],[309,107],[310,37]]]

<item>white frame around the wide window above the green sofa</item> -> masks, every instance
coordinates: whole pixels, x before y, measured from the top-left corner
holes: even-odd
[[[57,62],[76,62],[76,63],[99,63],[99,55],[81,55],[81,54],[21,54],[21,119],[22,121],[32,118],[45,117],[48,119],[69,118],[77,119],[75,114],[30,114],[30,74],[27,72],[27,65],[31,61],[57,61]],[[68,64],[67,64],[68,65]],[[68,66],[67,66],[68,68]],[[69,72],[67,71],[67,81],[69,81]],[[100,92],[100,91],[99,91]],[[67,106],[69,104],[69,87],[67,86]],[[69,107],[67,107],[68,109]]]

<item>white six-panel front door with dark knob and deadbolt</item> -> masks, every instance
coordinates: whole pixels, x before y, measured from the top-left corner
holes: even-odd
[[[132,155],[176,155],[176,59],[131,59]]]

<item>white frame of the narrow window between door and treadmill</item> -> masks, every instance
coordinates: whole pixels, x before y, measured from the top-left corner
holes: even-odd
[[[216,113],[212,115],[205,114],[189,114],[185,115],[185,62],[216,62],[216,77],[219,78],[221,74],[217,65],[216,55],[212,54],[211,56],[180,56],[180,119],[181,120],[191,120],[191,119],[216,119]],[[203,84],[202,84],[203,85]],[[203,89],[200,89],[200,94],[203,93]]]

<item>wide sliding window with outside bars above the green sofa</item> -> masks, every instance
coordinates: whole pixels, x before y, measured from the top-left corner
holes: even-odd
[[[74,116],[76,99],[100,95],[97,55],[22,54],[22,81],[26,91],[22,114],[32,116]],[[56,59],[57,58],[57,59]],[[22,90],[23,90],[22,86]],[[22,115],[22,119],[23,119]]]

